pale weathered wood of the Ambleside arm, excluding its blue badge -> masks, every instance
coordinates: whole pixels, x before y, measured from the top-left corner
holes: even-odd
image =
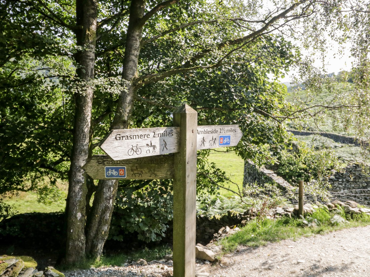
[[[242,138],[243,133],[240,131],[238,125],[211,125],[211,126],[198,126],[196,129],[196,148],[209,149],[224,147],[219,146],[219,137],[224,135],[230,135],[230,145],[236,146]]]

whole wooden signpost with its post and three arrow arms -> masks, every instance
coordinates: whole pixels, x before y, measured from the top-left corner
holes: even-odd
[[[176,277],[195,276],[196,151],[236,146],[242,137],[238,125],[197,126],[197,117],[185,104],[174,127],[112,130],[100,146],[107,155],[83,166],[92,179],[174,179]]]

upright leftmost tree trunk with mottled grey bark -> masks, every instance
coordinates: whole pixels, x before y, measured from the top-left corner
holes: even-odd
[[[75,55],[76,73],[81,82],[94,78],[95,43],[97,31],[97,0],[76,1],[76,21],[81,28],[76,31],[77,45],[82,46]],[[86,174],[81,168],[87,161],[90,145],[90,124],[93,88],[88,86],[77,92],[73,148],[69,172],[66,206],[67,234],[65,263],[74,264],[85,257]]]

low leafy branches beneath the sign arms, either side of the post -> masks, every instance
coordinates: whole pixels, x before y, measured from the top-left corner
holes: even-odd
[[[209,195],[218,193],[217,184],[225,181],[225,172],[208,163],[208,154],[209,151],[198,151],[197,195],[202,205],[208,204]],[[161,240],[173,217],[172,180],[136,181],[135,184],[119,187],[110,238],[123,240],[122,232],[135,232],[138,239],[145,242]]]

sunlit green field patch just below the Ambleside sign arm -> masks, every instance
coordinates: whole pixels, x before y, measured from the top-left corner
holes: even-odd
[[[225,148],[218,148],[218,151],[226,151]],[[240,190],[243,184],[243,171],[244,171],[244,161],[234,151],[229,152],[218,152],[211,150],[208,161],[215,163],[216,166],[222,171],[226,172],[226,175],[231,179],[232,182],[239,185]],[[235,184],[226,182],[221,184],[226,188],[230,188],[233,191],[238,191],[238,187]],[[231,191],[226,189],[220,189],[220,194],[222,196],[232,196],[234,195]]]

